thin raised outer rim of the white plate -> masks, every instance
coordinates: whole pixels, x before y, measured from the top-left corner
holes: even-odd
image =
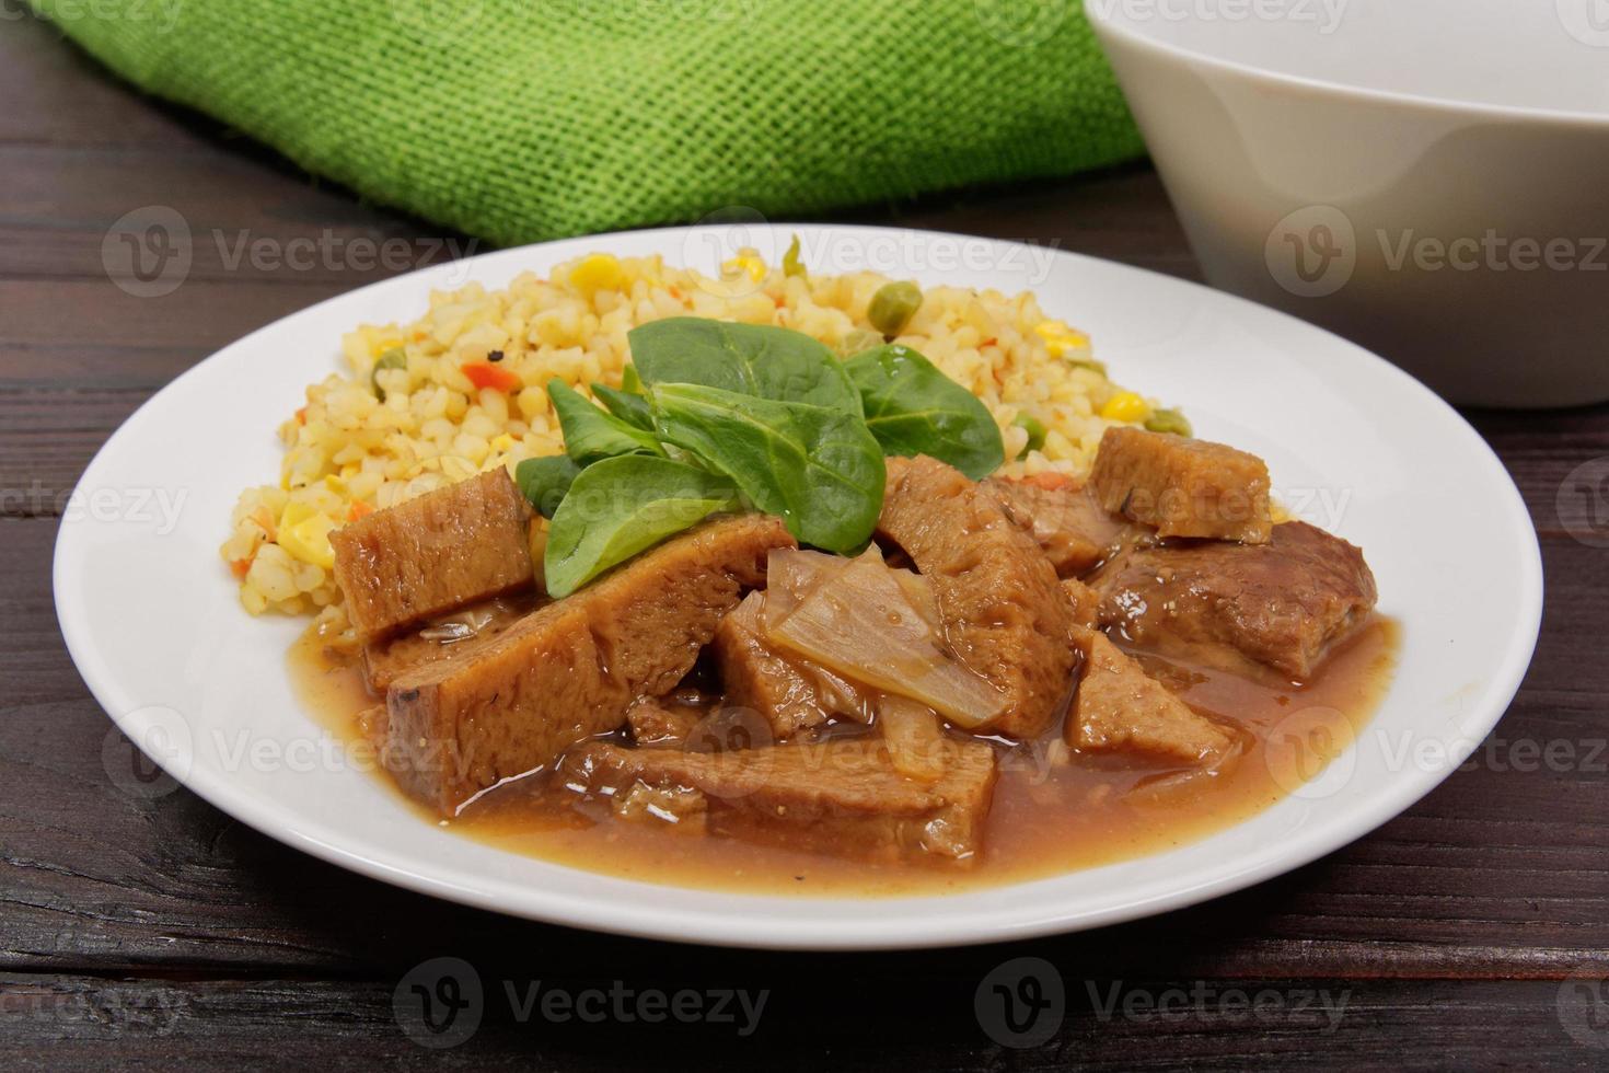
[[[801,232],[801,233],[822,233],[822,232],[838,232],[838,233],[866,233],[866,235],[906,235],[917,236],[920,241],[928,241],[935,236],[953,238],[962,241],[980,241],[988,243],[993,248],[1001,246],[1018,246],[1022,249],[1046,249],[1046,245],[1023,243],[1014,240],[991,238],[983,235],[967,235],[961,232],[943,232],[932,228],[909,228],[909,227],[885,227],[885,225],[862,225],[862,224],[832,224],[832,222],[800,222],[790,224],[787,220],[766,220],[763,225],[748,224],[748,227],[759,227],[761,230],[769,230],[774,235],[785,232]],[[491,257],[508,257],[510,254],[533,254],[533,251],[552,251],[555,246],[574,246],[581,248],[586,245],[607,245],[611,240],[639,240],[647,236],[658,238],[677,238],[689,236],[695,233],[714,233],[722,232],[722,225],[682,225],[682,227],[648,227],[648,228],[631,228],[621,232],[607,232],[597,235],[581,235],[573,238],[552,240],[544,243],[529,243],[525,246],[513,246],[507,249],[496,249],[471,257],[442,262],[436,265],[428,265],[414,272],[389,277],[386,280],[377,280],[339,294],[333,294],[327,299],[298,309],[285,317],[278,317],[270,323],[265,323],[238,339],[219,347],[212,354],[198,360],[190,368],[183,370],[174,376],[159,391],[153,393],[150,399],[140,404],[124,421],[108,436],[106,442],[95,452],[93,458],[84,468],[79,481],[74,484],[74,494],[84,489],[90,478],[101,467],[105,458],[114,455],[119,441],[127,434],[127,430],[145,413],[150,407],[159,404],[163,396],[174,391],[175,386],[185,381],[185,378],[198,373],[203,367],[211,362],[219,360],[222,356],[228,354],[235,347],[249,344],[257,336],[275,331],[282,328],[288,320],[311,315],[314,310],[323,309],[325,306],[335,302],[351,302],[357,296],[385,288],[394,286],[399,280],[425,277],[425,275],[447,275],[454,270],[463,272],[467,265],[479,262]],[[1194,280],[1184,280],[1179,277],[1171,277],[1150,269],[1141,269],[1136,265],[1123,264],[1120,261],[1110,261],[1105,257],[1097,257],[1084,253],[1076,253],[1070,249],[1060,249],[1059,246],[1051,248],[1054,257],[1070,257],[1073,261],[1083,262],[1084,267],[1094,267],[1101,272],[1117,272],[1117,275],[1138,273],[1138,277],[1157,283],[1162,286],[1183,286],[1186,290],[1197,291],[1204,296],[1208,304],[1220,304],[1229,310],[1245,312],[1252,310],[1253,317],[1274,317],[1278,320],[1289,322],[1298,330],[1307,333],[1318,333],[1324,336],[1329,346],[1339,346],[1350,352],[1356,360],[1371,364],[1377,372],[1384,372],[1389,376],[1398,380],[1398,388],[1409,396],[1416,396],[1419,402],[1438,407],[1443,410],[1443,417],[1450,417],[1455,428],[1466,438],[1467,446],[1472,447],[1471,457],[1479,462],[1480,468],[1485,470],[1485,476],[1492,478],[1495,489],[1503,489],[1506,502],[1503,504],[1503,516],[1517,524],[1521,531],[1517,536],[1524,552],[1524,560],[1514,563],[1516,579],[1519,584],[1519,595],[1522,598],[1522,606],[1516,608],[1512,616],[1514,629],[1506,637],[1503,660],[1498,668],[1493,669],[1492,676],[1482,684],[1477,700],[1483,698],[1483,703],[1474,705],[1474,709],[1485,714],[1480,716],[1479,730],[1482,738],[1490,734],[1490,730],[1503,719],[1511,705],[1514,695],[1519,690],[1521,680],[1530,666],[1535,647],[1540,637],[1541,627],[1541,610],[1543,610],[1543,563],[1541,563],[1541,545],[1532,523],[1530,512],[1514,484],[1512,476],[1508,473],[1503,462],[1492,450],[1490,444],[1469,425],[1467,420],[1458,410],[1455,410],[1443,399],[1435,396],[1429,388],[1413,378],[1409,373],[1392,365],[1377,354],[1364,349],[1363,346],[1352,343],[1342,336],[1337,336],[1318,325],[1303,322],[1290,314],[1260,306],[1249,299],[1239,298],[1236,294],[1228,294],[1224,291],[1213,290],[1204,283]],[[563,254],[562,254],[563,256]],[[465,283],[473,280],[473,267],[468,267]],[[130,714],[137,709],[137,705],[121,703],[124,698],[119,697],[119,689],[116,679],[100,661],[98,652],[93,650],[87,637],[87,624],[74,621],[72,611],[76,608],[64,606],[63,579],[71,568],[72,555],[72,537],[71,529],[66,524],[66,518],[58,523],[56,542],[51,561],[51,597],[56,610],[56,619],[61,627],[61,635],[66,643],[68,653],[72,658],[80,677],[88,687],[90,693],[95,697],[97,703],[106,713],[108,719],[124,734],[129,734],[130,727],[126,722],[130,721]],[[1387,690],[1381,703],[1389,700],[1390,692]],[[122,716],[114,713],[124,713]],[[129,734],[130,740],[138,740],[134,734]],[[154,759],[154,758],[153,758]],[[1186,906],[1194,906],[1212,898],[1229,894],[1247,886],[1253,886],[1265,880],[1274,878],[1286,872],[1295,870],[1307,865],[1323,856],[1340,849],[1345,845],[1377,830],[1381,825],[1395,819],[1398,814],[1411,808],[1422,796],[1430,793],[1438,787],[1448,775],[1451,775],[1463,758],[1450,758],[1448,764],[1435,772],[1426,772],[1422,780],[1397,780],[1389,787],[1389,791],[1381,793],[1356,808],[1347,809],[1340,816],[1329,820],[1321,820],[1319,825],[1303,835],[1300,849],[1290,851],[1284,849],[1279,853],[1263,851],[1252,857],[1244,867],[1224,872],[1210,880],[1204,880],[1195,885],[1181,886],[1178,890],[1163,891],[1147,898],[1139,898],[1134,901],[1125,901],[1109,909],[1084,911],[1076,914],[1030,914],[1023,912],[1018,917],[1002,919],[998,922],[969,922],[965,927],[951,922],[940,922],[938,925],[924,927],[920,922],[901,923],[898,930],[888,931],[887,922],[882,922],[877,930],[866,927],[854,927],[858,922],[843,920],[840,930],[832,935],[811,935],[803,931],[777,931],[771,930],[767,925],[772,923],[766,919],[756,919],[745,914],[730,914],[722,911],[722,906],[732,899],[756,899],[756,901],[774,901],[777,906],[800,906],[800,904],[843,904],[843,906],[877,906],[890,904],[893,901],[933,901],[941,902],[944,894],[924,894],[916,898],[803,898],[803,896],[766,896],[766,894],[743,894],[743,893],[727,893],[718,891],[713,894],[713,904],[698,914],[668,914],[663,907],[639,907],[626,906],[621,907],[618,899],[595,899],[586,898],[584,894],[568,893],[555,896],[550,891],[534,891],[531,894],[539,894],[537,902],[526,901],[518,906],[512,906],[497,901],[500,894],[489,886],[463,886],[441,875],[431,875],[426,872],[414,870],[405,865],[393,864],[380,857],[370,857],[357,849],[343,846],[339,843],[339,830],[335,825],[330,832],[335,838],[319,838],[304,825],[286,822],[280,816],[275,822],[275,811],[272,808],[259,808],[254,795],[249,793],[230,793],[230,783],[227,780],[214,780],[204,767],[193,767],[188,772],[180,774],[169,772],[179,783],[187,790],[204,800],[212,808],[217,808],[232,819],[246,824],[253,830],[257,830],[275,841],[296,848],[302,853],[309,853],[328,864],[335,864],[359,875],[375,878],[394,886],[401,886],[415,893],[428,894],[433,898],[441,898],[446,901],[471,906],[476,909],[491,911],[500,915],[510,915],[516,919],[539,920],[544,923],[553,923],[571,928],[584,928],[594,931],[603,931],[610,935],[623,935],[632,938],[647,938],[660,941],[674,943],[692,943],[702,946],[718,946],[718,948],[740,948],[740,949],[777,949],[777,951],[877,951],[877,949],[941,949],[941,948],[959,948],[959,946],[975,946],[986,943],[1004,943],[1027,938],[1038,938],[1046,935],[1060,935],[1089,930],[1096,927],[1107,927],[1113,923],[1123,923],[1128,920],[1136,920],[1141,917],[1157,915],[1173,909],[1183,909]],[[1252,817],[1247,817],[1250,820]],[[1247,822],[1242,820],[1242,822]],[[1232,830],[1239,824],[1231,824],[1224,830]],[[1191,840],[1192,843],[1200,840]],[[1136,859],[1144,859],[1142,854]],[[541,859],[541,857],[537,857]],[[1245,859],[1242,854],[1241,859]],[[571,869],[552,861],[544,861],[552,867],[563,867],[582,875],[599,875],[587,872],[586,869]],[[1068,872],[1073,874],[1073,872]],[[975,890],[1014,890],[1023,888],[1033,883],[1054,882],[1062,875],[1068,874],[1051,874],[1035,880],[1023,880],[1022,883],[1007,883],[1001,886],[988,888],[972,888]],[[608,877],[615,882],[631,883],[640,886],[644,891],[665,890],[666,885],[653,883],[647,880],[628,880],[621,877]],[[682,890],[676,886],[676,890]],[[936,931],[936,933],[935,933]]]

